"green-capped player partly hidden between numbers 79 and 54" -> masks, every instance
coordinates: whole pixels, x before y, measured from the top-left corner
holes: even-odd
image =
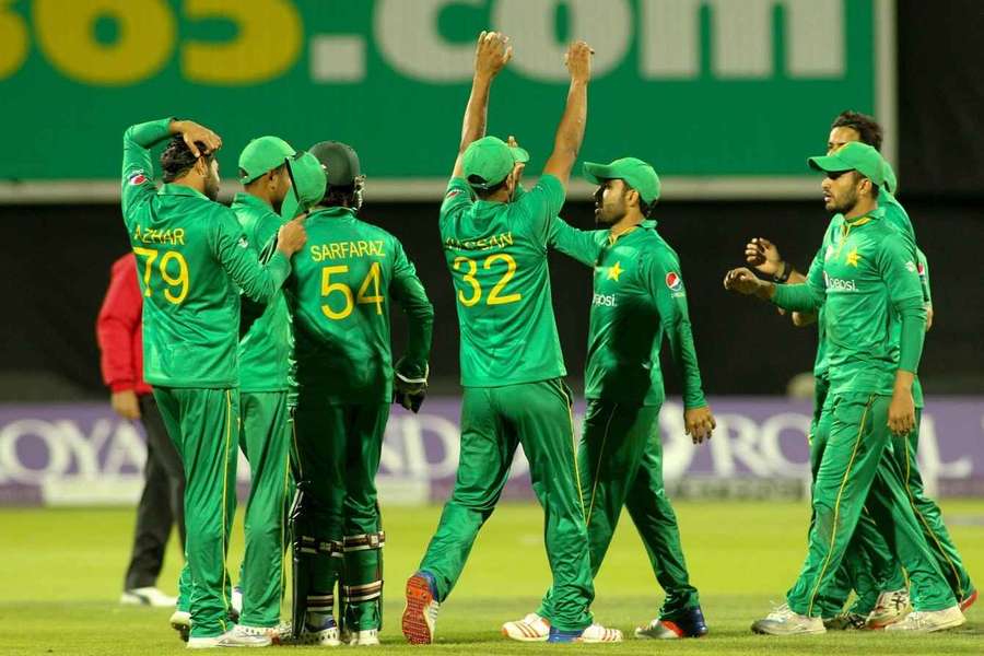
[[[284,223],[280,211],[291,188],[289,161],[296,153],[278,137],[250,141],[239,154],[239,181],[232,210],[249,248],[261,253]],[[283,593],[283,552],[291,429],[288,390],[291,385],[293,335],[282,292],[273,301],[254,305],[244,300],[239,340],[239,448],[249,461],[251,484],[246,502],[246,553],[239,585],[237,629],[268,635],[280,623]],[[251,316],[258,314],[258,316]]]

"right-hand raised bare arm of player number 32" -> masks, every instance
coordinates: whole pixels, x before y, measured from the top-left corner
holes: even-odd
[[[590,46],[586,43],[576,42],[571,45],[564,57],[564,63],[571,72],[567,104],[557,127],[553,152],[543,166],[543,174],[554,176],[564,189],[571,179],[571,168],[574,167],[577,152],[584,141],[584,128],[587,124],[587,85],[591,78],[591,52]]]

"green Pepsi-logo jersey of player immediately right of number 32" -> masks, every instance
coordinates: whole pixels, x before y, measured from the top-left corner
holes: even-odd
[[[656,222],[612,238],[607,230],[581,231],[558,216],[550,246],[595,270],[585,398],[661,405],[666,335],[682,372],[684,407],[706,406],[680,260]]]

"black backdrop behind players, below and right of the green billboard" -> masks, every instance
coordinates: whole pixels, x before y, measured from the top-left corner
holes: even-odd
[[[936,313],[921,375],[929,393],[984,393],[984,2],[904,0],[898,17],[899,198],[929,260]],[[818,150],[825,130],[818,126]],[[417,263],[437,313],[434,385],[454,393],[457,321],[437,203],[374,203],[371,185],[367,199],[363,218],[397,235]],[[569,203],[564,215],[593,225],[586,202]],[[815,330],[793,329],[770,306],[726,294],[721,280],[741,263],[752,236],[770,237],[805,268],[827,222],[819,195],[816,201],[665,202],[657,219],[682,261],[705,391],[784,393],[793,375],[812,365]],[[94,325],[109,266],[128,249],[118,206],[0,206],[0,400],[104,395]],[[551,272],[576,387],[591,277],[560,255],[551,256]],[[397,319],[397,353],[401,326]],[[676,376],[667,378],[668,391],[678,391]]]

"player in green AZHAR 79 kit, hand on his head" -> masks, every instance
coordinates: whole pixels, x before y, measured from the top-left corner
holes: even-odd
[[[152,180],[150,149],[161,156],[164,186]],[[185,466],[186,565],[172,624],[188,646],[251,644],[227,631],[225,570],[235,511],[239,372],[239,290],[269,303],[305,239],[292,221],[279,229],[277,254],[263,267],[229,208],[214,202],[222,140],[198,124],[165,118],[124,134],[122,215],[143,292],[144,377]],[[189,612],[190,611],[190,612]],[[255,636],[254,636],[255,637]]]

